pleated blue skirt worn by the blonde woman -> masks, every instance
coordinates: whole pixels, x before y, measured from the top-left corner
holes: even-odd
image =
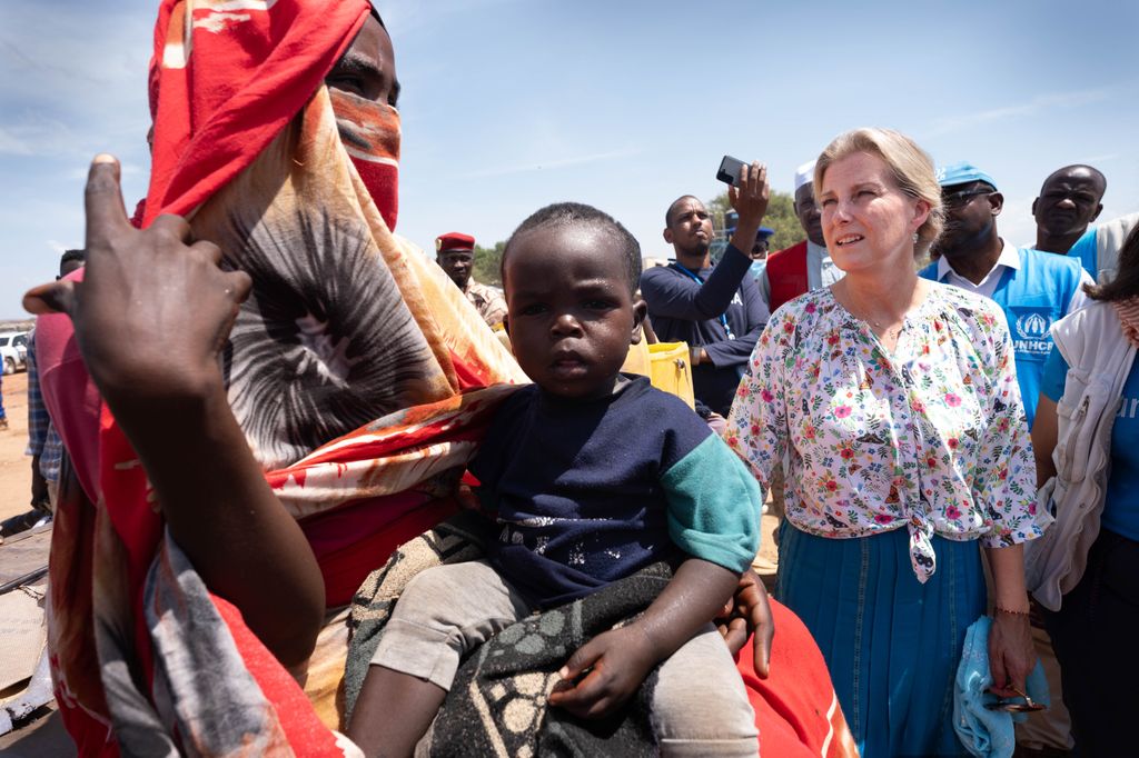
[[[863,758],[968,755],[953,732],[965,631],[985,612],[981,550],[934,536],[924,585],[909,533],[828,539],[784,520],[776,596],[814,635]]]

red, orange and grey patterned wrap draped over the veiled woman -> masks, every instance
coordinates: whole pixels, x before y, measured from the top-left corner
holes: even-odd
[[[462,293],[388,231],[398,114],[320,84],[369,13],[362,0],[167,0],[156,36],[146,219],[190,215],[195,237],[253,278],[223,356],[229,399],[312,544],[330,607],[454,511],[490,415],[525,381]],[[311,84],[300,99],[248,60],[282,46],[292,81]],[[254,75],[219,93],[227,66]],[[106,409],[99,434],[98,503],[65,487],[51,555],[54,674],[81,755],[354,750],[333,731],[343,616],[306,670],[286,672],[165,534]]]

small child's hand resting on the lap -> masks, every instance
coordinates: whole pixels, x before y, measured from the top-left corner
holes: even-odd
[[[656,662],[652,642],[636,624],[605,632],[579,648],[562,667],[562,682],[550,693],[550,705],[579,718],[604,718],[637,692]]]

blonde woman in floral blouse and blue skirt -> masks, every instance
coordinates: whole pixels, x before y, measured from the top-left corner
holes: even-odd
[[[843,279],[772,316],[728,421],[767,483],[782,462],[779,599],[811,629],[863,756],[964,753],[952,679],[985,611],[998,692],[1034,664],[1023,545],[1041,534],[1034,465],[1005,319],[918,279],[941,230],[929,157],[861,129],[814,170]]]

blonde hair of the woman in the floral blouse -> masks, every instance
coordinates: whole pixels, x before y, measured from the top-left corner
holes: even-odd
[[[822,176],[839,158],[855,153],[867,153],[880,158],[907,196],[929,204],[929,217],[918,228],[913,257],[925,258],[944,225],[941,206],[941,186],[934,174],[933,159],[917,142],[892,129],[863,127],[839,134],[819,154],[814,164],[814,191],[822,190]]]

